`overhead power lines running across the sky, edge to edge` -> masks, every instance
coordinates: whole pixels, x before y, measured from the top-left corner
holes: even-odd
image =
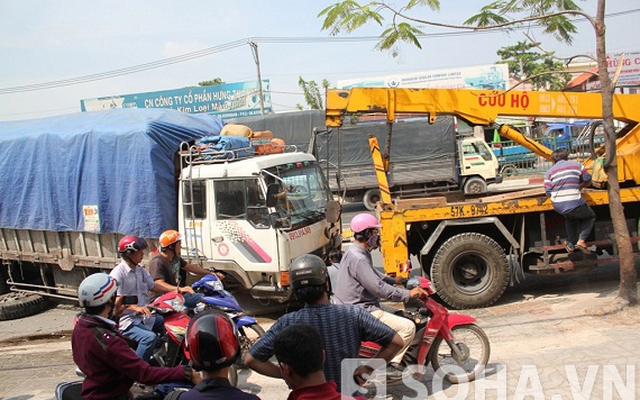
[[[615,13],[607,14],[606,17],[619,17],[625,16],[633,13],[640,12],[640,9],[619,11]],[[575,18],[572,20],[573,22],[582,22],[584,18]],[[535,24],[539,26],[540,24]],[[528,29],[527,27],[519,27],[515,29]],[[458,37],[458,36],[468,36],[468,35],[484,35],[484,34],[495,34],[503,32],[502,29],[487,29],[482,31],[474,31],[473,28],[469,28],[469,31],[446,31],[439,33],[430,33],[418,35],[419,38],[428,39],[428,38],[441,38],[441,37]],[[106,71],[96,74],[83,75],[75,78],[62,79],[51,82],[43,82],[43,83],[35,83],[29,85],[19,85],[19,86],[10,86],[6,88],[0,88],[0,94],[11,94],[11,93],[22,93],[22,92],[31,92],[37,90],[46,90],[46,89],[54,89],[65,86],[78,85],[82,83],[94,82],[104,79],[116,78],[124,75],[135,74],[138,72],[148,71],[151,69],[157,69],[166,67],[168,65],[183,63],[187,61],[191,61],[194,59],[198,59],[201,57],[206,57],[212,54],[221,53],[227,50],[235,49],[240,46],[244,46],[249,44],[250,42],[254,43],[277,43],[277,44],[298,44],[298,43],[326,43],[326,42],[335,42],[335,43],[348,43],[348,42],[366,42],[366,41],[378,41],[380,37],[378,36],[359,36],[359,37],[254,37],[254,38],[246,38],[240,39],[233,42],[229,42],[220,46],[208,47],[205,49],[197,50],[191,53],[186,53],[180,56],[164,58],[157,61],[151,61],[144,64],[133,65],[130,67],[119,68],[112,71]]]

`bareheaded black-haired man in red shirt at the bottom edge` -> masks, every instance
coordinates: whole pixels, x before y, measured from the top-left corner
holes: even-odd
[[[341,395],[335,382],[327,382],[322,337],[314,327],[290,325],[276,336],[273,347],[282,378],[292,389],[289,400],[365,400]]]

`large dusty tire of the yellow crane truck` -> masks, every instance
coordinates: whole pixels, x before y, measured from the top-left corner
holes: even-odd
[[[460,233],[436,252],[431,279],[438,296],[449,306],[486,307],[500,298],[509,283],[507,256],[486,235]]]

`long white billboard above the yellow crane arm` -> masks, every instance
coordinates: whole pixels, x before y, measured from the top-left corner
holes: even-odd
[[[338,81],[341,89],[354,87],[487,89],[505,90],[509,83],[507,64],[438,69],[401,75]]]

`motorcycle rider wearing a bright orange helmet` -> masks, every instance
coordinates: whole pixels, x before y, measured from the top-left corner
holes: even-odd
[[[173,229],[162,232],[159,238],[160,253],[149,262],[149,273],[156,284],[166,291],[182,293],[184,305],[194,308],[204,297],[202,293],[194,293],[191,286],[186,285],[187,272],[206,275],[210,271],[195,264],[188,263],[180,256],[182,250],[182,234]],[[223,274],[216,272],[220,279]],[[181,286],[182,284],[182,286]]]

